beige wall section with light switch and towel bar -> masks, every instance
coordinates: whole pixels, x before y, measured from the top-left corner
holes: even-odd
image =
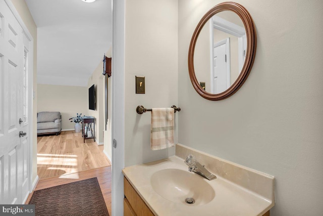
[[[127,0],[125,14],[125,165],[128,166],[175,154],[174,147],[150,150],[150,113],[139,115],[136,107],[177,106],[177,1]],[[145,76],[146,94],[135,93],[135,75]],[[175,114],[175,127],[179,115]]]

